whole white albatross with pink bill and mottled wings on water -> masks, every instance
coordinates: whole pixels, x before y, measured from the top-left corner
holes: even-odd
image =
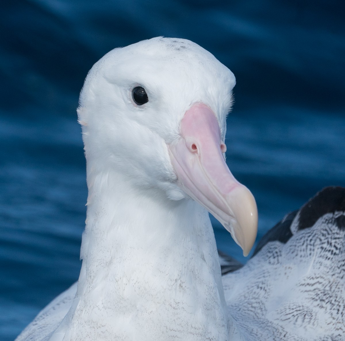
[[[245,255],[257,232],[255,199],[225,163],[234,86],[185,39],[116,48],[92,67],[77,110],[79,279],[16,341],[344,339],[344,189],[327,190],[337,199],[312,223],[313,205],[287,216],[221,275],[209,212]]]

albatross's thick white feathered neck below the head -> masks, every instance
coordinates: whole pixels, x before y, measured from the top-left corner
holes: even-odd
[[[228,316],[207,211],[88,176],[82,270],[63,340],[228,340]]]

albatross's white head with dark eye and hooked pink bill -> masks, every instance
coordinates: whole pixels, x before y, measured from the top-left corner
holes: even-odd
[[[191,197],[247,255],[256,203],[223,154],[234,86],[227,67],[185,39],[152,38],[107,53],[90,70],[78,109],[89,189],[99,172],[116,171],[171,200]]]

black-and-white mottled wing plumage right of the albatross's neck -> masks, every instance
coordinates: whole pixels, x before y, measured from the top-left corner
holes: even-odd
[[[289,238],[271,238],[223,276],[229,312],[246,340],[344,340],[344,198],[341,187],[319,192],[297,212]],[[288,235],[284,220],[281,226]]]

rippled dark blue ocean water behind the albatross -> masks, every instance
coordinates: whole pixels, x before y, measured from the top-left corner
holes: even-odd
[[[78,279],[75,109],[112,48],[186,38],[234,72],[227,163],[256,198],[258,238],[324,186],[345,186],[343,1],[12,0],[0,13],[0,340]],[[212,221],[219,249],[245,262]]]

